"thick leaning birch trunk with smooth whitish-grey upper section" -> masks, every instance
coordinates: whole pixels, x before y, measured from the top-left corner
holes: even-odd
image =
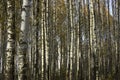
[[[18,80],[27,80],[26,54],[28,49],[28,27],[29,27],[29,9],[30,0],[23,0],[21,14],[21,28],[19,35],[19,52],[18,52]]]

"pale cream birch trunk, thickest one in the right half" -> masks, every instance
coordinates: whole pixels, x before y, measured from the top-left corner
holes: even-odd
[[[93,9],[93,0],[90,0],[90,46],[91,46],[91,55],[96,58],[96,34],[95,34],[95,18],[94,18],[94,9]],[[91,56],[89,55],[89,56]],[[92,59],[95,59],[92,57]],[[93,68],[95,60],[91,60],[90,67]],[[96,68],[96,64],[94,66]],[[95,69],[93,68],[93,69]],[[96,69],[95,69],[96,70]],[[95,80],[98,80],[98,71],[95,72]]]

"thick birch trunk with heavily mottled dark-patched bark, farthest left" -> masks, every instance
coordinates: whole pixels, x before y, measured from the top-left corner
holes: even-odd
[[[14,0],[7,0],[7,46],[5,52],[4,80],[14,80],[15,22]]]

